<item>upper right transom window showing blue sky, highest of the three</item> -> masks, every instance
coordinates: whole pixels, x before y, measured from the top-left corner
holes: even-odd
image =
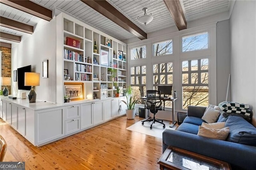
[[[208,48],[208,32],[182,37],[182,52]]]

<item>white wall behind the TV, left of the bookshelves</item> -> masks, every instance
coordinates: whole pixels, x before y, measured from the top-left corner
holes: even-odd
[[[40,26],[39,26],[40,25]],[[32,35],[22,38],[22,42],[12,47],[12,73],[19,67],[32,65],[32,72],[40,73],[40,86],[34,87],[38,100],[56,102],[56,26],[55,18],[42,21]],[[42,78],[42,61],[48,59],[48,77]],[[13,79],[13,74],[12,74]],[[18,83],[12,81],[12,95],[20,97]]]

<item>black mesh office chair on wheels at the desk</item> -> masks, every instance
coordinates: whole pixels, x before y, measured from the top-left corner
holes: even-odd
[[[151,122],[150,129],[152,129],[152,125],[155,122],[161,123],[163,128],[165,128],[165,124],[162,119],[156,119],[155,115],[158,111],[162,110],[162,100],[161,100],[161,91],[157,90],[147,90],[147,99],[146,99],[146,109],[149,109],[151,113],[154,114],[154,117],[149,117],[145,121],[142,121],[142,125],[144,122]]]

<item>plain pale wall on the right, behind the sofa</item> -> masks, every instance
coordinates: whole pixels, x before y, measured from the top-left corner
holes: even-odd
[[[256,126],[256,1],[236,1],[230,17],[231,100],[249,104]]]

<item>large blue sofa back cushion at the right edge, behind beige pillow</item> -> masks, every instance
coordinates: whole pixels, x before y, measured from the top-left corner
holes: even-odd
[[[230,128],[227,141],[256,146],[256,128],[244,118],[230,115],[225,127]]]

